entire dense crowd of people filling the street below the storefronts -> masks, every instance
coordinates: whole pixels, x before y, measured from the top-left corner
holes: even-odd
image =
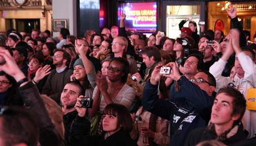
[[[81,38],[7,30],[0,145],[256,145],[256,34],[227,12],[226,36],[186,19],[177,39],[147,38],[125,14]]]

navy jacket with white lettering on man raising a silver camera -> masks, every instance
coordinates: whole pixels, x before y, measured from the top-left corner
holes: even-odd
[[[157,96],[157,85],[148,81],[144,86],[142,106],[156,116],[170,121],[170,144],[183,145],[188,133],[205,127],[214,98],[182,76],[178,80],[180,91],[171,90],[170,100]],[[179,119],[184,117],[182,122]]]

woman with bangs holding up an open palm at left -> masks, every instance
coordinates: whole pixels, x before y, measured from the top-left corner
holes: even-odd
[[[34,84],[36,84],[39,92],[41,93],[43,85],[45,85],[45,82],[47,80],[47,75],[50,74],[51,67],[50,65],[46,65],[44,67],[44,58],[43,55],[40,53],[36,53],[32,55],[29,58],[29,64],[28,64],[28,79],[32,80]],[[47,74],[43,74],[42,76],[42,71],[47,72]],[[40,74],[41,73],[41,74]]]

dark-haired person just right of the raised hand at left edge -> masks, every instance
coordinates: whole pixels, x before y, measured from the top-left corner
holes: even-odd
[[[16,48],[13,50],[13,58],[15,59],[19,69],[27,75],[28,72],[28,65],[26,64],[27,56],[28,56],[28,44],[24,42],[19,42],[16,45]]]

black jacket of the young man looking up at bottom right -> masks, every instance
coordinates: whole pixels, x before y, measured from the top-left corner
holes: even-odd
[[[209,131],[205,127],[197,128],[194,131],[189,133],[189,136],[188,136],[188,139],[186,139],[185,145],[186,146],[196,145],[199,142],[203,142],[205,140],[212,140],[216,138],[217,138],[217,135],[215,134],[215,132]],[[246,139],[246,135],[243,131],[243,127],[239,126],[237,133],[235,133],[232,137],[224,140],[223,143],[226,145],[233,145],[245,139]]]

